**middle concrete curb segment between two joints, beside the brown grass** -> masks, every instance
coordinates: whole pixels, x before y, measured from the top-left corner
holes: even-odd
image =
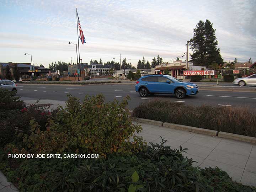
[[[172,129],[184,130],[184,131],[189,131],[189,132],[199,133],[199,134],[204,134],[204,135],[211,135],[211,136],[216,136],[218,133],[218,131],[216,131],[216,130],[190,127],[190,126],[179,125],[179,124],[174,124],[174,123],[163,123],[163,127],[169,127]]]

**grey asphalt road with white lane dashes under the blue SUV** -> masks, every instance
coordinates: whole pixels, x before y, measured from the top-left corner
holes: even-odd
[[[235,91],[217,91],[200,90],[193,96],[187,96],[184,99],[177,99],[174,95],[149,95],[140,97],[135,92],[133,84],[97,84],[97,85],[30,85],[18,84],[18,96],[30,97],[31,99],[49,99],[66,101],[68,94],[79,97],[82,101],[86,94],[96,95],[102,93],[106,101],[113,101],[114,98],[122,100],[129,95],[131,100],[128,102],[128,108],[133,110],[141,102],[152,100],[154,98],[166,99],[173,102],[182,102],[185,105],[212,105],[212,106],[232,106],[232,107],[250,107],[256,108],[256,92],[235,92]]]

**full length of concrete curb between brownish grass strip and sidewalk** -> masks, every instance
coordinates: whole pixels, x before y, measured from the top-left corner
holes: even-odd
[[[168,128],[177,129],[177,130],[184,130],[184,131],[189,131],[189,132],[204,134],[204,135],[210,135],[210,136],[218,136],[218,137],[225,138],[225,139],[233,139],[233,140],[238,140],[241,142],[256,144],[255,137],[249,137],[249,136],[245,136],[245,135],[238,135],[238,134],[226,133],[226,132],[218,132],[216,130],[203,129],[203,128],[198,128],[198,127],[190,127],[190,126],[184,126],[184,125],[179,125],[179,124],[174,124],[174,123],[166,123],[166,122],[162,122],[162,121],[154,121],[151,119],[143,119],[143,118],[136,118],[136,117],[132,117],[132,119],[133,119],[133,121],[136,121],[139,123],[145,123],[145,124],[156,125],[156,126],[161,126],[161,127],[168,127]]]

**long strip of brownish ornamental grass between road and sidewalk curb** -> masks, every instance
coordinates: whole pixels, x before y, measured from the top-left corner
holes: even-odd
[[[141,103],[133,110],[132,115],[139,118],[256,137],[256,111],[249,108],[186,106],[182,103],[155,99]]]

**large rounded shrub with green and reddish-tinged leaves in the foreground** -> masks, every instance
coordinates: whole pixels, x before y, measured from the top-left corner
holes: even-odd
[[[127,153],[143,144],[134,132],[142,128],[132,124],[127,98],[122,102],[104,102],[103,95],[79,98],[69,95],[66,108],[59,107],[47,130],[41,131],[36,121],[31,121],[31,133],[20,134],[30,153],[62,153],[76,151],[98,153],[106,157],[111,153]],[[134,136],[134,137],[133,137]],[[137,142],[126,142],[133,137]]]

